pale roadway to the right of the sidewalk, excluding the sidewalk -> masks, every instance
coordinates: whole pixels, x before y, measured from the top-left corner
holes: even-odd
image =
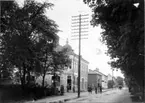
[[[89,94],[87,97],[67,101],[66,103],[134,103],[127,88],[114,89],[102,94]]]

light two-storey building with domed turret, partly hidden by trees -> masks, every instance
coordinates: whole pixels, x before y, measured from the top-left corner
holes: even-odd
[[[77,91],[78,89],[78,55],[75,54],[71,48],[71,46],[66,43],[64,47],[67,47],[70,49],[70,52],[68,53],[70,59],[71,59],[71,66],[66,67],[65,70],[60,74],[58,73],[57,77],[57,87],[60,88],[60,85],[63,85],[65,87],[65,91]],[[59,46],[57,49],[61,49],[62,46]],[[80,68],[80,90],[81,91],[87,91],[88,86],[88,65],[89,62],[86,61],[84,58],[81,57],[81,68]],[[53,83],[53,76],[49,73],[45,77],[47,83],[49,85],[52,85]],[[38,81],[38,80],[37,80]],[[42,78],[40,77],[39,81],[42,81]]]

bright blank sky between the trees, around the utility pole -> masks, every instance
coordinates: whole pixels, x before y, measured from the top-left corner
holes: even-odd
[[[23,2],[23,0],[17,0]],[[71,36],[71,19],[72,16],[79,14],[89,14],[89,21],[91,20],[92,10],[83,3],[83,0],[37,0],[48,1],[54,4],[52,9],[46,11],[48,18],[54,20],[59,26],[61,32],[58,33],[60,37],[60,45],[65,45],[68,39],[69,44],[74,49],[74,52],[78,54],[78,40],[73,39]],[[81,40],[81,55],[89,62],[89,69],[99,68],[99,71],[108,75],[112,74],[112,70],[108,61],[110,57],[105,54],[107,47],[103,44],[101,39],[102,29],[100,26],[92,27],[89,25],[88,39]],[[114,71],[114,76],[121,76],[123,74],[120,70]]]

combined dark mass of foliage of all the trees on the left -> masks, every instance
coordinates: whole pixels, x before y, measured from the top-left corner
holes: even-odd
[[[34,0],[25,0],[22,7],[14,1],[1,4],[1,70],[18,68],[16,76],[20,76],[23,88],[30,83],[31,74],[37,73],[43,77],[44,87],[46,74],[55,77],[71,63],[68,48],[55,49],[59,45],[58,26],[44,15],[53,4]]]

